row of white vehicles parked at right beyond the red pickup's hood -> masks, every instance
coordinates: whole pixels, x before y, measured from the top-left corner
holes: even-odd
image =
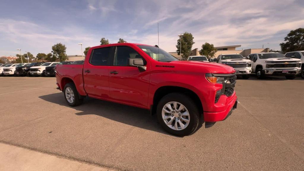
[[[205,56],[190,56],[188,61],[207,62]],[[220,54],[212,60],[219,64],[233,67],[237,75],[248,79],[254,73],[258,79],[266,75],[285,76],[286,79],[295,79],[300,74],[304,79],[304,51],[294,51],[285,54],[268,52],[253,53],[244,58],[241,54]]]

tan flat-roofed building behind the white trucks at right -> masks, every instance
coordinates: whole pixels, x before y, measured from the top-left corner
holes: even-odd
[[[269,52],[269,48],[235,50],[237,47],[241,47],[241,45],[214,47],[217,49],[214,58],[218,57],[220,54],[241,54],[243,57],[247,57],[249,54],[252,53]]]

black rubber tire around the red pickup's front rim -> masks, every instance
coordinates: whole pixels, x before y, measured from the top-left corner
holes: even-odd
[[[181,103],[188,110],[190,119],[189,119],[188,126],[185,129],[174,130],[174,129],[171,129],[169,126],[167,126],[167,124],[164,122],[164,120],[162,118],[162,110],[163,110],[163,107],[169,102]],[[174,110],[173,110],[173,112],[174,112]],[[187,136],[187,135],[194,133],[200,123],[199,122],[200,113],[199,113],[198,106],[196,106],[196,103],[190,97],[188,97],[184,94],[181,94],[181,93],[174,92],[174,93],[170,93],[170,94],[164,96],[157,104],[156,115],[157,115],[158,122],[161,124],[161,126],[164,128],[164,130],[166,130],[168,133],[176,135],[176,136]],[[172,125],[174,125],[173,123],[175,123],[175,121],[177,119],[178,118],[176,118],[175,120],[172,119],[173,121],[172,121],[171,127],[173,127]]]

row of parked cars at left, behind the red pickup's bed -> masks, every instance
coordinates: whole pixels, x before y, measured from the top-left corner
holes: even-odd
[[[33,62],[0,65],[0,76],[55,76],[56,65],[78,64],[82,61]]]

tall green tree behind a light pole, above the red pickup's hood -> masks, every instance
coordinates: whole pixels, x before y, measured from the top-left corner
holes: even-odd
[[[177,54],[181,54],[182,58],[188,58],[191,54],[192,45],[195,43],[193,41],[194,37],[191,33],[185,32],[178,40],[177,40]]]

